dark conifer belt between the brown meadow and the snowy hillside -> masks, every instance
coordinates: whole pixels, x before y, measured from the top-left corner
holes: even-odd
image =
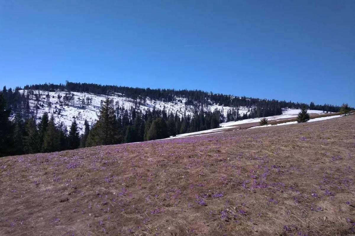
[[[69,131],[61,122],[56,125],[53,114],[44,113],[39,123],[33,115],[20,110],[10,119],[11,108],[0,92],[0,156],[54,152],[97,145],[141,142],[219,127],[222,116],[218,110],[199,112],[191,117],[167,114],[163,110],[147,110],[145,114],[131,108],[115,108],[113,100],[101,102],[98,120],[91,126],[85,120],[80,135],[74,119]]]

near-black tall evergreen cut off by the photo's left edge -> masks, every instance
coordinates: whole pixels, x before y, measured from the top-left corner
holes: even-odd
[[[6,90],[6,87],[4,87]],[[11,109],[6,109],[7,104],[2,92],[0,92],[0,157],[10,155],[12,145],[12,125],[9,121]]]

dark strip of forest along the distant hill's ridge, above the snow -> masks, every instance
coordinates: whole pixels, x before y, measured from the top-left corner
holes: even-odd
[[[35,84],[24,86],[25,90],[44,90],[44,91],[73,91],[73,92],[87,92],[93,94],[104,94],[111,95],[121,94],[131,99],[137,99],[145,101],[147,98],[163,100],[165,102],[173,102],[175,99],[184,98],[186,99],[185,105],[195,105],[196,107],[200,104],[212,105],[218,104],[225,107],[260,107],[267,108],[267,113],[265,115],[281,115],[281,108],[295,108],[301,109],[303,107],[309,108],[311,110],[322,110],[328,112],[339,112],[340,107],[330,104],[315,105],[311,102],[309,105],[306,103],[298,102],[286,102],[278,101],[275,99],[259,99],[259,98],[247,98],[236,97],[226,94],[216,94],[212,92],[205,92],[201,90],[174,90],[174,89],[151,89],[151,88],[133,88],[126,86],[116,86],[116,85],[98,85],[98,84],[88,84],[88,83],[76,83],[66,81],[66,84]],[[257,116],[262,117],[262,116]]]

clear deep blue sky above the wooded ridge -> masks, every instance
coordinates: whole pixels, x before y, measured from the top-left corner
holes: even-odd
[[[354,0],[0,0],[0,86],[89,82],[355,107]]]

